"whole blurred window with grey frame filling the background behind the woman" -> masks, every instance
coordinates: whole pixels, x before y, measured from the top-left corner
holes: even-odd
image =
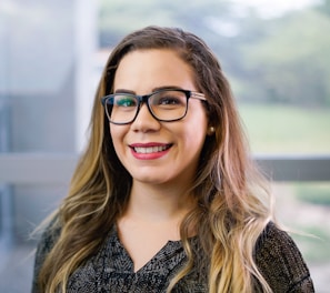
[[[279,219],[320,238],[294,234],[317,291],[326,292],[330,2],[192,0],[187,9],[174,0],[1,1],[1,260],[24,259],[34,245],[29,232],[66,195],[111,48],[138,28],[176,26],[218,54],[253,154],[274,172]],[[31,259],[0,264],[0,291],[29,286],[31,267]],[[19,270],[23,284],[12,282]]]

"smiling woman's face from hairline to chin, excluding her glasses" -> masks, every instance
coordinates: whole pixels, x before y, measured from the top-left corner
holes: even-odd
[[[191,68],[174,51],[138,50],[120,61],[113,91],[149,94],[160,88],[197,91]],[[156,120],[143,103],[136,120],[110,123],[114,150],[133,181],[191,184],[207,135],[202,102],[190,99],[187,115],[174,122]]]

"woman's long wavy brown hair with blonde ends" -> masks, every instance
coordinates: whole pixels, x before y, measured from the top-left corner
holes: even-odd
[[[200,38],[160,27],[130,33],[108,59],[94,98],[87,150],[54,215],[53,226],[60,225],[61,234],[41,267],[41,292],[66,292],[69,276],[96,253],[126,210],[132,178],[114,152],[100,100],[111,93],[120,60],[131,51],[148,49],[173,50],[192,68],[196,85],[208,100],[208,119],[216,128],[204,141],[190,190],[198,204],[180,226],[188,262],[171,280],[168,292],[196,265],[207,267],[211,293],[252,292],[256,282],[263,292],[271,292],[254,263],[254,245],[272,219],[272,200],[250,158],[229,82]],[[198,264],[188,241],[192,225],[204,255]]]

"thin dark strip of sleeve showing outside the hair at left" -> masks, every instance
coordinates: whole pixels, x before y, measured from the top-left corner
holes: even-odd
[[[56,244],[61,232],[60,228],[54,228],[54,222],[56,222],[56,219],[52,220],[50,224],[44,229],[37,246],[37,252],[34,257],[32,290],[31,290],[32,293],[41,293],[38,290],[39,273],[47,255]]]

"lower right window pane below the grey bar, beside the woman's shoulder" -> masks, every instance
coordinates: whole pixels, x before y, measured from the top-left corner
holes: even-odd
[[[330,182],[276,183],[277,216],[301,250],[316,292],[328,292],[330,272]]]

